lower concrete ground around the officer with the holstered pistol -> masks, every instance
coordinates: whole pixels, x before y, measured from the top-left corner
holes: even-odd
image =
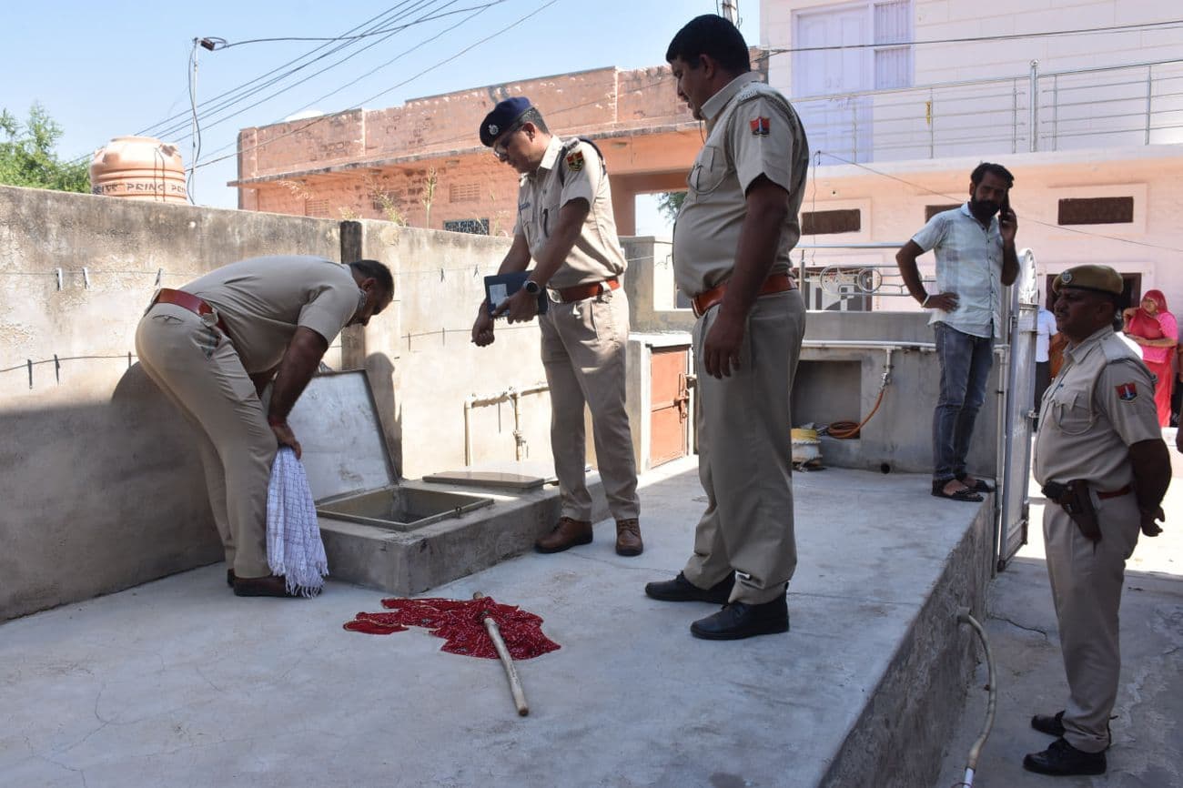
[[[983,626],[998,672],[994,730],[978,761],[975,788],[1176,788],[1183,786],[1178,747],[1183,721],[1183,457],[1171,447],[1174,482],[1164,532],[1142,537],[1126,564],[1121,594],[1121,684],[1111,726],[1108,774],[1047,777],[1022,769],[1023,755],[1052,741],[1030,729],[1034,713],[1064,708],[1067,682],[1060,655],[1052,590],[1043,561],[1043,499],[1033,484],[1030,543],[994,581]],[[959,784],[965,757],[985,719],[984,661],[970,686],[962,723],[946,749],[935,788]]]

